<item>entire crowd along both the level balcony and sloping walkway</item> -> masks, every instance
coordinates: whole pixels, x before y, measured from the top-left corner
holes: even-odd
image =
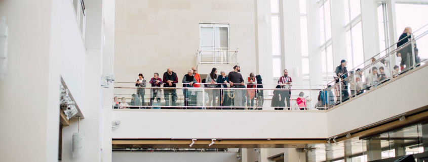
[[[397,57],[401,57],[401,62],[400,66],[395,65],[393,69],[389,68],[388,64],[392,63],[388,63],[386,59],[376,62],[376,59],[372,58],[372,63],[376,63],[372,64],[372,67],[368,71],[368,75],[364,76],[364,70],[362,69],[348,72],[346,69],[347,62],[341,60],[340,65],[335,69],[335,87],[331,88],[332,85],[329,85],[327,89],[319,92],[316,107],[328,107],[338,104],[340,100],[345,101],[349,99],[350,95],[359,95],[363,93],[364,90],[368,90],[371,87],[375,87],[380,83],[390,80],[391,77],[397,77],[400,72],[406,71],[413,66],[412,50],[415,51],[415,63],[420,63],[416,43],[414,43],[414,49],[412,49],[411,45],[402,47],[402,45],[411,41],[411,34],[412,29],[406,27],[403,34],[400,36],[399,42],[397,43]],[[201,80],[201,76],[197,73],[195,67],[187,71],[187,74],[184,75],[182,79],[182,87],[187,87],[182,89],[184,105],[189,107],[187,109],[208,108],[227,110],[247,108],[248,110],[253,110],[254,100],[256,98],[257,105],[255,109],[261,109],[264,103],[261,75],[250,73],[249,77],[244,79],[240,73],[241,69],[239,65],[236,65],[234,71],[229,72],[227,76],[225,71],[220,71],[220,75],[217,75],[217,72],[217,69],[213,68],[211,73],[207,75],[205,79]],[[365,78],[365,81],[363,78]],[[167,69],[167,72],[163,74],[163,78],[160,78],[159,73],[154,73],[153,78],[151,78],[148,83],[152,87],[150,88],[150,103],[148,104],[152,106],[151,109],[160,109],[162,89],[165,99],[165,109],[177,108],[175,106],[177,106],[176,101],[178,99],[176,89],[178,76],[171,68]],[[135,86],[146,87],[146,84],[143,74],[139,74]],[[161,85],[163,85],[163,88],[161,88]],[[228,85],[230,85],[232,89],[223,89],[228,87]],[[201,86],[208,88],[205,90],[198,90],[197,88]],[[270,107],[275,107],[275,110],[284,110],[284,108],[290,110],[291,86],[292,79],[288,76],[287,69],[285,69],[283,71],[283,76],[279,78],[278,85],[273,91]],[[349,92],[351,93],[349,94]],[[146,109],[144,94],[144,88],[137,88],[136,94],[132,94],[131,106],[126,102],[125,97],[121,98],[122,102],[119,102],[118,97],[114,97],[114,109],[124,109],[128,107],[130,109]],[[205,98],[205,100],[202,98]],[[157,103],[153,103],[154,100],[157,100]],[[205,103],[208,103],[208,106]],[[300,110],[306,109],[306,98],[303,92],[299,93],[296,104]]]

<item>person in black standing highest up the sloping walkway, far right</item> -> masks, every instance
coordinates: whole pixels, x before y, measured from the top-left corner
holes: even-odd
[[[397,48],[411,41],[411,34],[412,28],[406,27],[403,31],[403,34],[401,34],[400,38],[398,39]],[[413,66],[412,45],[409,44],[405,47],[401,47],[401,49],[399,49],[397,52],[397,56],[401,57],[400,65],[406,65],[405,69],[409,69],[411,66]]]

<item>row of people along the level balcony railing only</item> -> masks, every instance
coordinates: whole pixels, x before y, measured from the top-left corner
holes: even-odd
[[[182,78],[182,88],[184,105],[187,109],[248,109],[261,110],[264,103],[263,79],[261,75],[250,73],[245,79],[241,75],[241,67],[236,65],[234,71],[231,71],[226,76],[225,71],[220,71],[217,75],[217,68],[213,68],[211,73],[205,79],[201,80],[201,76],[197,73],[197,69],[192,67],[187,71]],[[290,97],[292,79],[288,76],[288,71],[283,71],[284,76],[278,80],[277,89],[274,91],[271,107],[276,107],[276,110],[291,109]],[[177,105],[177,84],[178,76],[171,68],[167,69],[163,78],[159,77],[159,73],[154,73],[148,84],[150,88],[150,103],[151,109],[160,109],[161,97],[165,100],[163,109],[181,109]],[[161,86],[163,85],[163,88]],[[136,87],[146,87],[147,81],[143,74],[138,75],[135,83]],[[198,90],[198,87],[208,87],[204,90]],[[222,87],[222,88],[221,88]],[[224,89],[230,87],[231,89]],[[145,88],[137,88],[136,94],[132,94],[130,105],[126,102],[126,98],[122,97],[122,102],[118,101],[118,97],[114,97],[114,109],[147,109],[144,102]],[[204,95],[204,97],[202,97]],[[306,107],[306,99],[301,92],[296,100],[296,104],[304,110]],[[203,100],[202,98],[205,98]],[[255,104],[255,99],[257,103]],[[157,100],[157,103],[153,103]],[[207,105],[208,104],[208,105]],[[177,107],[176,107],[177,106]]]

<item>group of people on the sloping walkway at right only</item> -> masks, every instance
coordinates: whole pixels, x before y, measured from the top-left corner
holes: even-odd
[[[349,96],[356,96],[364,92],[364,90],[369,90],[371,87],[376,87],[377,85],[386,82],[391,79],[391,77],[397,77],[400,73],[406,72],[407,70],[413,67],[413,55],[412,50],[414,51],[414,63],[419,64],[419,50],[417,49],[416,42],[412,45],[403,46],[409,41],[411,41],[412,29],[410,27],[406,27],[403,31],[403,34],[400,36],[399,41],[397,43],[397,57],[400,59],[400,66],[394,65],[392,69],[389,67],[392,66],[392,62],[388,62],[387,59],[381,59],[380,61],[376,61],[375,58],[371,59],[372,66],[368,69],[368,75],[365,75],[365,81],[363,81],[363,71],[362,69],[357,69],[355,71],[348,72],[346,69],[346,61],[342,60],[340,62],[340,66],[336,67],[335,73],[335,87],[330,88],[331,85],[328,86],[330,90],[320,91],[318,97],[317,106],[326,106],[326,105],[335,105],[339,104],[340,97],[341,101],[345,101],[349,99]],[[387,58],[387,57],[386,57]],[[374,64],[373,64],[374,63]],[[339,80],[342,80],[339,83]],[[349,94],[349,91],[351,94]],[[332,91],[332,89],[334,89]]]

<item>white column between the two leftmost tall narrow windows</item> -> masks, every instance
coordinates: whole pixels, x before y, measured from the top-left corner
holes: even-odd
[[[288,69],[288,75],[294,84],[302,84],[302,53],[300,41],[300,13],[298,0],[280,1],[281,23],[281,61],[284,70]]]

